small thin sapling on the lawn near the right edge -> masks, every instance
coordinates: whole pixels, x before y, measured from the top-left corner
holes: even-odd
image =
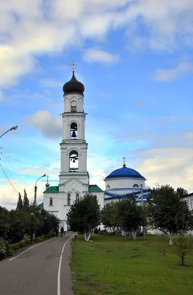
[[[177,237],[173,240],[175,252],[181,259],[181,265],[184,266],[184,259],[191,250],[193,238],[191,235],[185,236],[184,231],[179,231]]]

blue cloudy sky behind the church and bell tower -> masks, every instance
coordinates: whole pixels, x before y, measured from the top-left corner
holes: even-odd
[[[91,184],[126,166],[193,192],[193,0],[0,5],[0,206],[58,184],[63,85],[85,86]],[[8,179],[6,178],[3,170]],[[38,180],[43,202],[46,177]],[[51,182],[51,180],[55,180]]]

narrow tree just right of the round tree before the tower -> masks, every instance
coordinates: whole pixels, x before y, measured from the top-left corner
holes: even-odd
[[[119,226],[116,215],[116,203],[106,203],[100,212],[100,221],[105,227],[109,227],[114,232],[115,227]]]

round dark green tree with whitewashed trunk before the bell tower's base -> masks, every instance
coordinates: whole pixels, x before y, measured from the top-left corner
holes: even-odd
[[[74,232],[84,232],[86,241],[90,240],[91,230],[100,223],[100,206],[96,195],[86,194],[72,204],[68,223]]]

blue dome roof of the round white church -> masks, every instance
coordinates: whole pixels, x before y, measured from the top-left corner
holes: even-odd
[[[139,172],[137,172],[134,169],[131,168],[127,168],[127,167],[122,167],[120,169],[116,169],[113,172],[111,172],[105,179],[109,179],[109,178],[143,178],[145,179],[145,177],[143,177]]]

